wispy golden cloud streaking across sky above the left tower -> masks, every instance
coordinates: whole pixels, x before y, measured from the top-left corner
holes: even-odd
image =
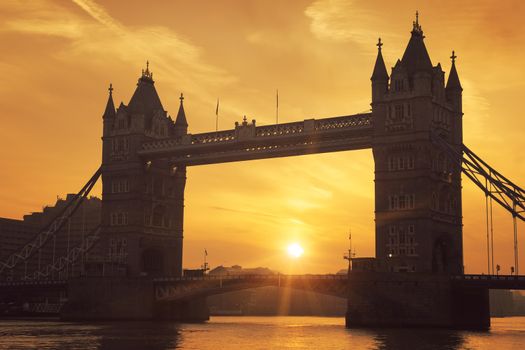
[[[1,10],[13,13],[0,24],[0,31],[64,38],[68,40],[66,46],[54,55],[62,59],[81,57],[90,65],[103,65],[110,59],[139,66],[149,59],[153,70],[162,74],[163,84],[173,89],[184,88],[186,92],[198,91],[199,98],[204,100],[215,96],[203,89],[202,82],[224,86],[235,81],[228,72],[206,62],[201,48],[170,28],[128,27],[95,1],[72,0],[72,4],[88,17],[51,0],[36,0],[28,10],[19,1],[0,5]]]

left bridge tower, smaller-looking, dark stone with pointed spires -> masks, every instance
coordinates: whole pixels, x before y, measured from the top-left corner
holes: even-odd
[[[187,133],[183,97],[173,122],[149,64],[128,105],[115,110],[112,91],[103,115],[102,238],[91,259],[103,263],[87,266],[97,275],[180,276],[186,169],[137,152],[144,142]]]

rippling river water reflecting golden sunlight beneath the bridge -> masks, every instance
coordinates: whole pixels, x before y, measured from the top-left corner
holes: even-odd
[[[213,317],[202,324],[2,320],[0,349],[524,349],[525,317],[488,332],[345,329],[328,317]]]

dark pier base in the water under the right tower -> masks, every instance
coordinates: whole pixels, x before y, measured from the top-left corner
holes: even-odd
[[[346,327],[488,329],[488,289],[449,276],[350,273]]]

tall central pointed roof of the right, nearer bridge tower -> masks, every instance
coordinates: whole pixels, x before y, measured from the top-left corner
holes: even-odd
[[[419,14],[416,12],[416,20],[413,22],[413,28],[411,32],[412,36],[408,42],[401,63],[408,70],[408,74],[412,75],[416,71],[421,70],[432,70],[432,61],[428,55],[427,48],[423,39],[423,29],[419,24]]]

